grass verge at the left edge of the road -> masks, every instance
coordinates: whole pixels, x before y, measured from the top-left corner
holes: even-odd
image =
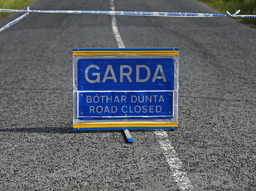
[[[1,9],[21,9],[34,0],[0,0]],[[13,12],[0,12],[0,19]]]

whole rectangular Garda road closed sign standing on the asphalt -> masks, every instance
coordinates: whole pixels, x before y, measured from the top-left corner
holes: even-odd
[[[74,48],[74,130],[177,129],[178,48]]]

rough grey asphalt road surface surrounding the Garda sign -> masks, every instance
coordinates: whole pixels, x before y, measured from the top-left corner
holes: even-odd
[[[110,10],[109,0],[36,0]],[[195,0],[115,0],[120,11],[217,11]],[[15,13],[0,21],[4,26]],[[128,47],[178,47],[179,128],[194,190],[256,190],[256,30],[232,18],[116,16]],[[151,130],[73,132],[72,48],[118,47],[109,15],[30,13],[0,33],[1,190],[179,190]]]

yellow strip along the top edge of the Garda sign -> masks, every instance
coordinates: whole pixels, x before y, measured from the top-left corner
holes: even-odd
[[[179,51],[73,51],[73,56],[92,56],[92,55],[179,55]]]

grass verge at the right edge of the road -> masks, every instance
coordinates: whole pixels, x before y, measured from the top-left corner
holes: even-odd
[[[256,0],[199,0],[221,12],[226,14],[229,11],[231,14],[238,9],[241,10],[238,14],[256,15]],[[256,29],[256,18],[236,18],[244,24]]]

